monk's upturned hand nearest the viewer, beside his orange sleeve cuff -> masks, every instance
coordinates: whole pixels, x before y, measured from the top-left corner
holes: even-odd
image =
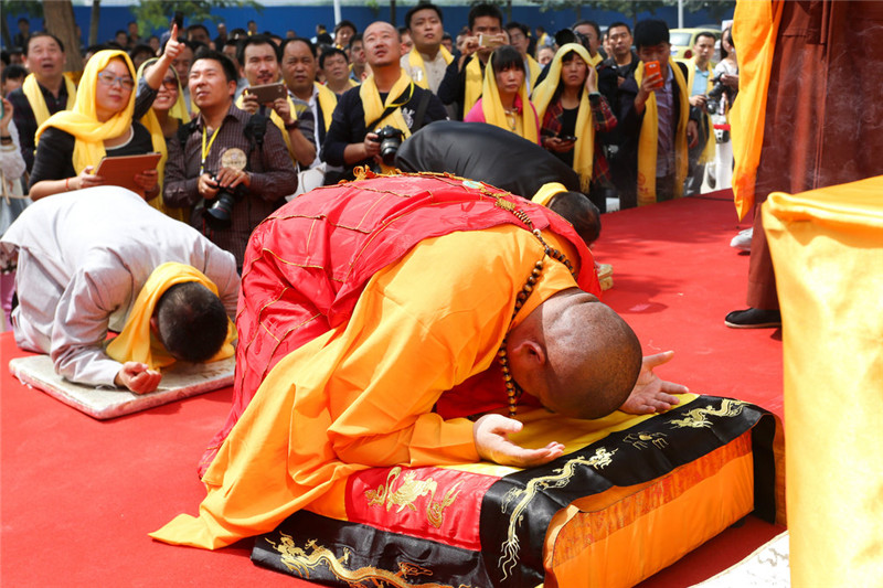
[[[564,455],[564,446],[554,441],[541,449],[525,449],[510,441],[509,436],[522,427],[520,421],[502,415],[482,416],[472,426],[478,455],[481,459],[515,468],[542,466]]]

